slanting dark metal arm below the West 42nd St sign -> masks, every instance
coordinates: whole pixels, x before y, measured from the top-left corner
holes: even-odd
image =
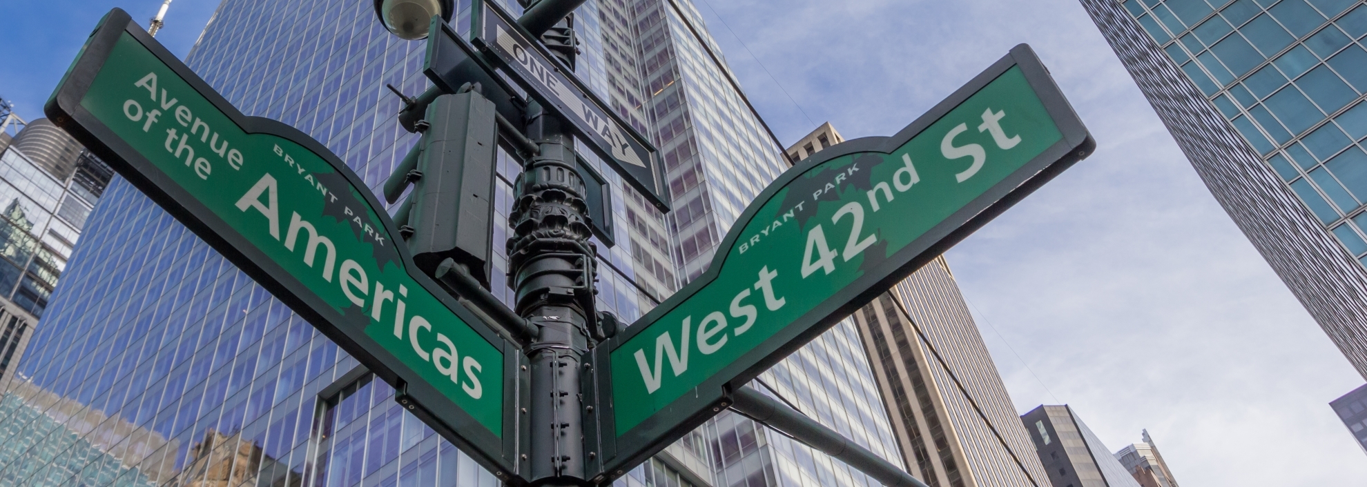
[[[925,487],[919,479],[897,468],[897,465],[893,465],[887,460],[879,458],[874,452],[856,445],[835,430],[822,426],[822,423],[793,411],[793,408],[760,394],[755,389],[740,387],[731,398],[735,401],[731,409],[793,437],[811,447],[822,450],[843,461],[846,465],[868,473],[868,476],[884,486]]]

